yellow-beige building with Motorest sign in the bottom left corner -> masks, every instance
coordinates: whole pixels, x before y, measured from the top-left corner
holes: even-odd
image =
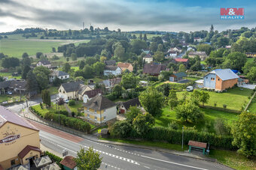
[[[0,106],[0,169],[33,163],[40,156],[39,130]]]

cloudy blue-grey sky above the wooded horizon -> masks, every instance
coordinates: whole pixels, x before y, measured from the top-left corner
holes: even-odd
[[[245,19],[221,20],[220,7],[244,7]],[[256,26],[254,0],[0,0],[0,32],[17,28],[122,31],[219,31]]]

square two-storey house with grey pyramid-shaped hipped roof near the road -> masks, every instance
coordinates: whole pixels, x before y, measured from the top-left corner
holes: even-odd
[[[93,124],[106,124],[117,119],[117,105],[102,95],[84,103],[84,118]]]

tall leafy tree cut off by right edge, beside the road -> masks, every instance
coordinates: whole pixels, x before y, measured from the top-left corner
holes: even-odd
[[[237,146],[239,154],[246,157],[256,156],[256,115],[251,112],[242,112],[238,121],[232,127],[232,144]]]

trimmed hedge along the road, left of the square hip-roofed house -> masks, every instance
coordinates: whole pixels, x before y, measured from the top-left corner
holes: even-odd
[[[79,118],[72,118],[68,117],[66,115],[62,114],[55,114],[55,113],[50,113],[47,112],[45,115],[41,115],[40,112],[36,111],[32,107],[30,109],[35,112],[35,114],[39,115],[41,118],[46,119],[47,121],[53,121],[56,123],[60,123],[61,125],[65,127],[70,127],[74,130],[79,130],[84,133],[90,133],[90,124],[87,122],[79,119]]]

